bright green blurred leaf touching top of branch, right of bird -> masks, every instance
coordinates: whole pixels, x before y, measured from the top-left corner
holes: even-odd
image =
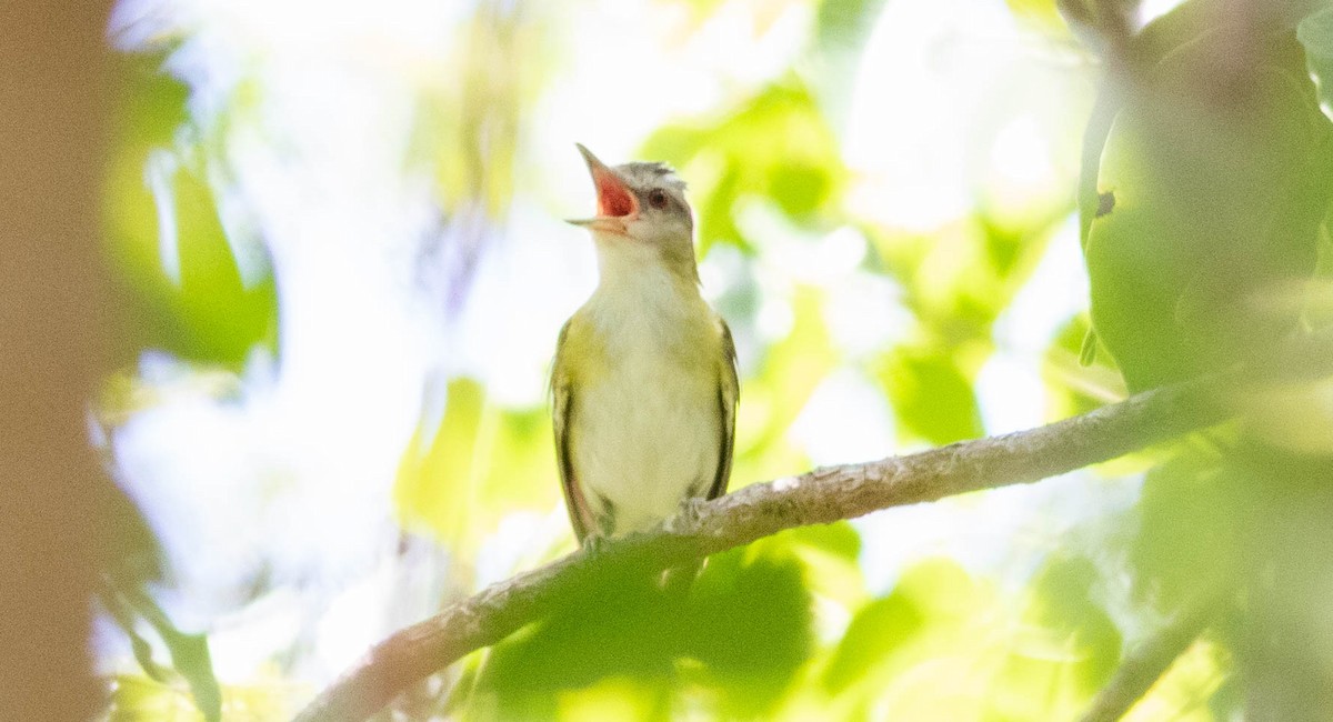
[[[949,350],[898,348],[876,376],[902,425],[925,441],[940,445],[984,434],[972,382]]]

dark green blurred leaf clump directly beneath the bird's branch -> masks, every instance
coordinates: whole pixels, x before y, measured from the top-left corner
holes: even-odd
[[[810,625],[800,563],[737,549],[709,559],[688,599],[631,575],[501,642],[471,709],[481,719],[552,718],[557,706],[592,703],[576,697],[605,694],[607,681],[637,695],[680,693],[684,669],[726,714],[749,717],[769,709],[805,662]]]

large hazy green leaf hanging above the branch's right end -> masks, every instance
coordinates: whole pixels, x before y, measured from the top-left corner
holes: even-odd
[[[1196,44],[1126,104],[1086,249],[1097,336],[1132,390],[1217,369],[1288,333],[1333,193],[1333,127],[1290,44],[1218,69]]]

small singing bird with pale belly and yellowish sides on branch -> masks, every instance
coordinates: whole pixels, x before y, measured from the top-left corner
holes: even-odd
[[[700,296],[685,182],[661,163],[607,167],[597,188],[597,289],[565,322],[552,370],[556,456],[580,542],[645,530],[726,492],[736,349]]]

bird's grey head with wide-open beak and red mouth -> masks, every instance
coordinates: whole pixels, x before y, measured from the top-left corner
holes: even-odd
[[[612,168],[583,145],[579,152],[597,186],[597,214],[569,222],[592,230],[599,254],[657,258],[697,277],[694,221],[685,201],[685,181],[661,163]]]

